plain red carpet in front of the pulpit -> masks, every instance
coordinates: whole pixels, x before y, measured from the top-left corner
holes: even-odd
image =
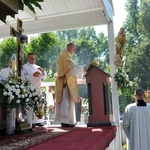
[[[105,150],[115,138],[116,127],[76,127],[65,135],[37,144],[27,150]]]

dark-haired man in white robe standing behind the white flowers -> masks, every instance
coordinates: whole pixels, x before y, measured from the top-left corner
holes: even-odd
[[[42,94],[41,91],[41,79],[46,77],[46,71],[41,68],[40,66],[35,64],[35,58],[36,56],[34,53],[29,53],[27,56],[27,63],[23,65],[23,70],[22,70],[22,77],[23,78],[28,78],[31,83],[37,88],[37,91],[39,95]],[[27,117],[31,118],[32,116],[32,111],[27,112]],[[35,114],[32,120],[33,127],[35,125],[40,126],[40,123],[43,123],[44,119],[38,119]]]

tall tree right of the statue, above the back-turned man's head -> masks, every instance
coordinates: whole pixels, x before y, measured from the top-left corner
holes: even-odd
[[[147,89],[150,88],[150,83],[148,82],[150,69],[146,67],[146,64],[150,64],[150,43],[147,42],[149,34],[146,34],[148,29],[143,24],[143,18],[145,16],[150,17],[149,12],[146,11],[149,9],[149,2],[138,3],[138,0],[128,0],[127,2],[126,6],[129,15],[125,23],[128,41],[125,47],[127,56],[126,70],[130,78],[133,81],[135,80],[139,87]],[[130,22],[129,20],[132,21]]]

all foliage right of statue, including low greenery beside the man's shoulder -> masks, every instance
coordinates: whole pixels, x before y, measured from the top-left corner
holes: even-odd
[[[124,23],[127,43],[125,45],[125,72],[133,81],[133,87],[119,91],[120,111],[133,101],[133,91],[141,87],[150,89],[150,43],[149,0],[127,0],[127,19]]]

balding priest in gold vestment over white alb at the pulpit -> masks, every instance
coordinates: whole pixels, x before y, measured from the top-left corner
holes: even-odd
[[[57,61],[55,121],[61,123],[62,127],[73,127],[76,124],[75,102],[80,102],[77,78],[81,78],[88,69],[87,66],[73,63],[71,56],[75,50],[75,44],[69,43]]]

